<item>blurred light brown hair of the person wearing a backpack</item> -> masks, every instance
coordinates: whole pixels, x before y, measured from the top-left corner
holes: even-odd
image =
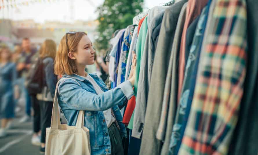
[[[54,40],[46,39],[40,49],[39,57],[52,57],[55,59],[57,53],[57,45]]]

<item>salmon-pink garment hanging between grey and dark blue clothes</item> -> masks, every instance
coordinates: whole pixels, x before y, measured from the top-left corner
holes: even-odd
[[[201,10],[206,6],[208,0],[196,1],[189,0],[186,7],[186,21],[183,27],[183,33],[181,37],[181,46],[180,46],[180,54],[179,54],[179,74],[178,74],[178,94],[177,101],[179,104],[181,89],[183,86],[184,79],[184,69],[185,69],[185,55],[186,55],[186,31],[192,21],[197,18],[201,14]]]

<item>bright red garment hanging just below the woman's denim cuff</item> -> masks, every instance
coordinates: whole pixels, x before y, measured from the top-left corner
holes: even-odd
[[[135,103],[136,103],[135,96],[133,96],[130,100],[128,100],[126,111],[125,111],[124,116],[123,116],[123,121],[122,121],[123,124],[125,124],[125,125],[129,124],[130,119],[132,117],[132,113],[135,109]]]

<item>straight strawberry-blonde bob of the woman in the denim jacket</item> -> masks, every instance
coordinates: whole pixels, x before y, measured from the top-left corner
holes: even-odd
[[[63,36],[58,46],[56,59],[54,61],[54,73],[56,75],[71,75],[77,72],[75,60],[70,59],[70,57],[68,57],[68,53],[77,52],[78,43],[84,35],[87,35],[87,33],[76,32],[75,34],[67,34]]]

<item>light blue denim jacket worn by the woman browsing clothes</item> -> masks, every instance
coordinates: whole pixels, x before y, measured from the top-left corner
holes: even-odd
[[[75,126],[79,110],[85,111],[84,126],[90,130],[92,155],[111,154],[111,144],[103,111],[112,107],[120,128],[121,137],[127,137],[122,123],[119,104],[133,95],[132,84],[125,81],[115,89],[108,90],[97,74],[89,74],[104,93],[97,94],[92,84],[78,75],[63,75],[58,85],[58,101],[68,125]],[[66,79],[63,79],[66,78]]]

